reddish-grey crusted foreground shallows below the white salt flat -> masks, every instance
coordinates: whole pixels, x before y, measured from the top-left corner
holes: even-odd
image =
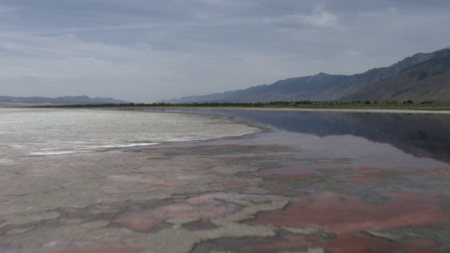
[[[2,164],[0,252],[450,252],[448,164],[318,154],[297,137]]]

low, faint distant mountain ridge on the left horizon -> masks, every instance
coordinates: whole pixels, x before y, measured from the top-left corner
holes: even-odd
[[[75,104],[104,104],[104,103],[129,103],[114,98],[89,98],[89,96],[61,96],[57,98],[46,97],[13,97],[0,96],[0,103],[8,104],[35,104],[35,105],[75,105]]]

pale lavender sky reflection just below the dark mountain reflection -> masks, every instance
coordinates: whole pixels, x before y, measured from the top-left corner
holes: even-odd
[[[291,145],[298,152],[290,154],[304,159],[315,159],[302,164],[308,169],[356,168],[447,168],[449,164],[428,157],[414,157],[387,143],[375,143],[358,136],[326,136],[300,134],[276,130],[248,143]]]

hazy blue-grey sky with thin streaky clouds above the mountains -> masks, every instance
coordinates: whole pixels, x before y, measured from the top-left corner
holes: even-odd
[[[0,96],[135,103],[450,46],[448,0],[0,0]]]

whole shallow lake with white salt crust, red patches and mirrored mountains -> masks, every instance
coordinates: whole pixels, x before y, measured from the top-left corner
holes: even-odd
[[[0,115],[1,252],[450,250],[448,114]]]

